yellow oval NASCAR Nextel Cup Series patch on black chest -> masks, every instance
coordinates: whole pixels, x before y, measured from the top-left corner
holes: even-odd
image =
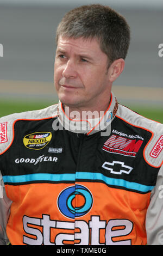
[[[28,149],[43,149],[51,141],[51,132],[34,132],[23,138],[23,144]]]

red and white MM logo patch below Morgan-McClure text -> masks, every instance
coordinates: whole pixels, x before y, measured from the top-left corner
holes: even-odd
[[[103,150],[112,154],[136,157],[143,141],[139,139],[128,139],[121,136],[112,135],[103,146]]]

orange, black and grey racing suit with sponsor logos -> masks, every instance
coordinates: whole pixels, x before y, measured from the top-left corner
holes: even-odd
[[[162,125],[114,94],[92,120],[0,119],[2,245],[163,245]]]

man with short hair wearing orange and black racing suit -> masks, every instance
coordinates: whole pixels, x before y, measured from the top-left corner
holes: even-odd
[[[129,40],[103,5],[62,19],[59,103],[0,119],[2,244],[163,244],[162,125],[111,93]]]

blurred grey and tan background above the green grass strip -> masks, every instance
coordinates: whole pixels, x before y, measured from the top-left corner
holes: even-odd
[[[55,31],[62,16],[82,4],[101,3],[121,13],[131,28],[122,75],[115,82],[123,101],[162,104],[163,1],[0,0],[0,94],[5,97],[55,99]],[[0,98],[0,99],[1,99]]]

